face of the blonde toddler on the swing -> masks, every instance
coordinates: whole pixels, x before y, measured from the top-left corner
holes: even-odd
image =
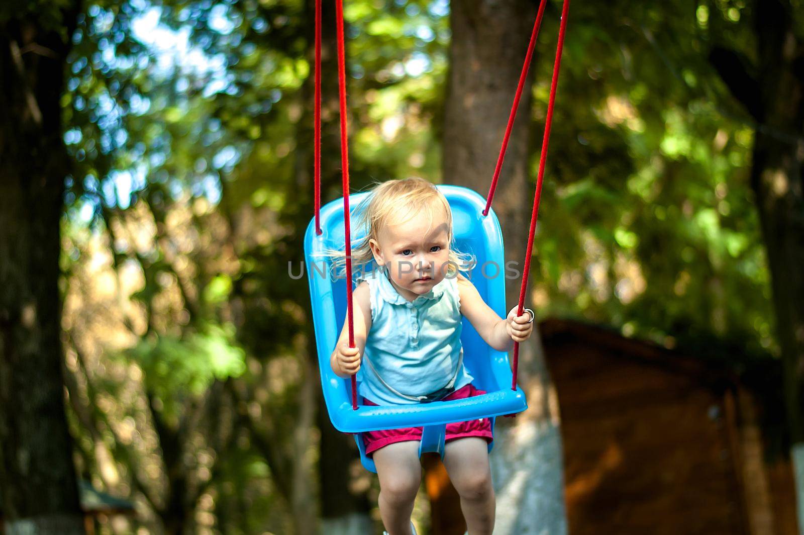
[[[399,222],[391,220],[369,241],[378,265],[387,265],[396,290],[408,301],[426,294],[444,280],[449,261],[449,228],[443,210],[430,224],[421,212]]]

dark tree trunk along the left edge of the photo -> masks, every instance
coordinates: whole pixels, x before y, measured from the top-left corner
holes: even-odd
[[[77,6],[60,13],[72,35]],[[59,14],[55,8],[47,15]],[[0,30],[0,499],[6,533],[84,533],[64,414],[64,27]],[[52,23],[51,23],[52,24]]]

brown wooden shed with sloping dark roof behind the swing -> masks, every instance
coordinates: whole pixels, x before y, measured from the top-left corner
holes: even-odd
[[[540,329],[569,533],[797,535],[790,459],[769,458],[773,430],[762,426],[782,408],[749,386],[774,361],[737,367],[565,320]],[[425,467],[431,533],[464,533],[440,461]]]

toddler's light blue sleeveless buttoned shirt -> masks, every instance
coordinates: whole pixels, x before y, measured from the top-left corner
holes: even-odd
[[[377,405],[410,405],[418,401],[400,393],[424,396],[453,377],[455,390],[472,382],[463,366],[457,278],[444,278],[412,302],[392,286],[387,270],[366,272],[357,280],[368,283],[371,295],[371,331],[358,377],[361,396]]]

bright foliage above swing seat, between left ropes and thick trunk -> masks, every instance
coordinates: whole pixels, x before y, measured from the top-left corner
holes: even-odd
[[[437,142],[449,44],[444,1],[350,2],[350,108],[358,183],[441,174]]]

